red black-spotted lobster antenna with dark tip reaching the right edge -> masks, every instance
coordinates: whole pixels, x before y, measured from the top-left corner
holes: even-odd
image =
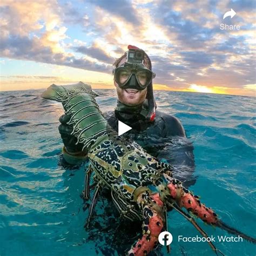
[[[169,195],[179,207],[185,207],[188,212],[192,212],[194,215],[196,215],[207,224],[223,228],[231,234],[239,235],[241,238],[244,238],[256,244],[255,238],[252,238],[236,230],[235,228],[229,227],[221,220],[219,220],[217,214],[211,208],[208,208],[204,204],[202,204],[198,196],[194,196],[190,191],[184,188],[181,185],[180,181],[166,176],[165,178],[170,182],[169,184],[167,184],[167,187],[170,190]]]

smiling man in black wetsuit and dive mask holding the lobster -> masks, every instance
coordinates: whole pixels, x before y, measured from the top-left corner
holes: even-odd
[[[184,182],[194,183],[193,145],[186,138],[180,121],[170,114],[156,110],[153,96],[152,72],[149,56],[136,46],[129,45],[128,51],[113,64],[114,86],[117,90],[117,106],[114,112],[104,113],[109,125],[118,131],[118,120],[132,127],[123,134],[142,146],[152,156],[167,161],[173,168],[173,176]],[[76,144],[71,135],[70,116],[60,118],[59,133],[63,140],[62,165],[76,166],[86,160],[86,149]]]

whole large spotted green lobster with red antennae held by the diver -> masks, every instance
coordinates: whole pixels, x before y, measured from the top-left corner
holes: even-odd
[[[171,208],[190,221],[205,238],[207,234],[190,213],[207,224],[256,243],[254,238],[224,224],[211,208],[174,179],[171,165],[150,156],[137,143],[118,137],[99,110],[96,95],[90,85],[82,82],[69,86],[53,84],[42,94],[43,98],[63,104],[65,113],[71,115],[69,124],[73,126],[72,134],[89,152],[90,166],[85,176],[84,198],[89,197],[92,172],[95,172],[97,185],[86,225],[100,190],[106,186],[110,188],[113,203],[122,217],[143,221],[142,238],[131,247],[128,255],[146,255],[157,247],[159,233],[166,230],[166,211]],[[212,242],[208,243],[215,253],[223,254]]]

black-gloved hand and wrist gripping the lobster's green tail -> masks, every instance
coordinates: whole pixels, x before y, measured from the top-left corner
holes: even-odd
[[[83,144],[77,143],[77,138],[73,135],[71,135],[71,132],[73,131],[73,127],[71,125],[68,125],[71,118],[71,115],[63,114],[59,118],[59,133],[62,137],[64,148],[63,148],[63,154],[64,159],[69,164],[79,164],[81,160],[83,161],[86,159],[87,150],[83,150]]]

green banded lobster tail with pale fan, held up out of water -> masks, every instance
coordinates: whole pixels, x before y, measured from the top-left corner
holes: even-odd
[[[90,150],[104,136],[113,133],[96,103],[97,93],[92,91],[89,84],[83,82],[64,86],[52,84],[41,96],[62,103],[65,114],[71,115],[67,123],[73,126],[71,134],[77,137],[77,143],[84,144],[83,149]]]

